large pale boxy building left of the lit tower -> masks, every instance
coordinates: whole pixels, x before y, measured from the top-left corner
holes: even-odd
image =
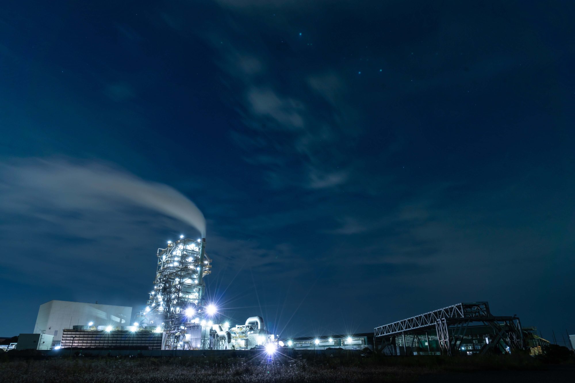
[[[53,335],[54,343],[62,339],[62,330],[75,325],[121,327],[130,325],[132,308],[67,301],[49,301],[40,306],[34,334]]]

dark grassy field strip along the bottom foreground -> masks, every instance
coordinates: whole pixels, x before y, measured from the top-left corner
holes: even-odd
[[[529,371],[546,365],[527,355],[383,357],[298,352],[242,357],[4,359],[0,380],[10,382],[412,382],[485,371]],[[471,374],[468,374],[471,373]],[[442,379],[443,381],[444,378]]]

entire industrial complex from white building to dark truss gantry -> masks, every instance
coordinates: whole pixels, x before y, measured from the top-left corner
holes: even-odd
[[[181,238],[156,252],[154,287],[131,323],[132,308],[50,301],[40,306],[34,334],[21,334],[17,349],[162,351],[297,350],[378,351],[385,355],[474,355],[530,350],[549,341],[519,317],[494,316],[488,302],[451,305],[374,328],[373,333],[281,338],[266,330],[261,316],[231,324],[206,300],[204,278],[212,273],[205,238]],[[153,354],[150,354],[153,353]],[[168,354],[166,354],[168,355]]]

